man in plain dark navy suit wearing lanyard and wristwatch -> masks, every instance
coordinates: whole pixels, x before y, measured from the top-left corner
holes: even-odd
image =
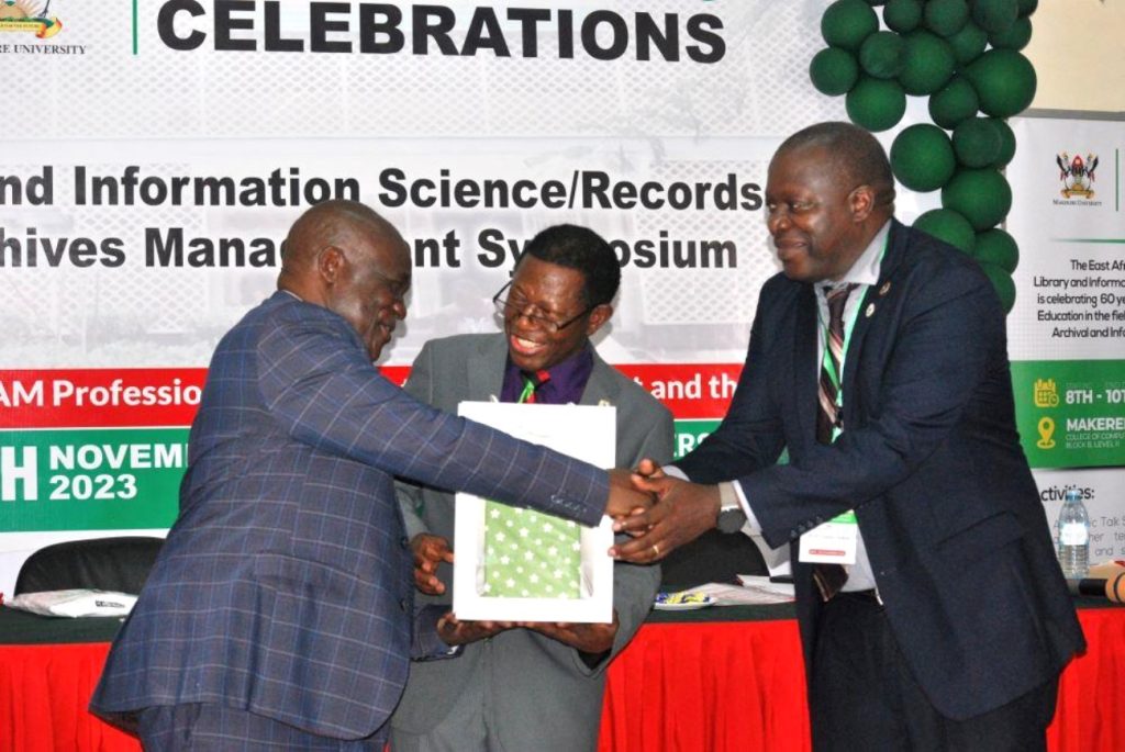
[[[615,555],[747,517],[790,543],[818,750],[1045,749],[1083,640],[988,278],[893,219],[886,155],[855,126],[786,139],[765,198],[782,272],[730,409],[674,466],[641,463],[662,498],[618,524],[638,537]]]

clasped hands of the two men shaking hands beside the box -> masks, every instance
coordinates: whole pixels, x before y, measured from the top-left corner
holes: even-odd
[[[719,508],[718,486],[667,475],[651,460],[641,460],[632,472],[611,470],[605,514],[613,517],[614,532],[632,540],[611,547],[610,555],[634,564],[660,561],[714,527]]]

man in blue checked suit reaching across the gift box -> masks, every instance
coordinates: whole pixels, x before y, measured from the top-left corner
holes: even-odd
[[[458,642],[414,607],[395,475],[586,525],[648,498],[380,377],[410,284],[390,224],[322,203],[219,343],[179,518],[91,700],[146,749],[382,749],[408,659]]]

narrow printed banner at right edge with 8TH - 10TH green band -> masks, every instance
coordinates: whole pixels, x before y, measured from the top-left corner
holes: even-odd
[[[1007,229],[1020,245],[1008,317],[1019,433],[1048,519],[1066,489],[1081,491],[1091,562],[1125,559],[1122,125],[1012,118],[1007,173]]]

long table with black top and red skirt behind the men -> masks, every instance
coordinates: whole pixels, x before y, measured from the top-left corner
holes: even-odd
[[[1059,688],[1053,752],[1125,750],[1125,607],[1078,599],[1089,643]],[[136,752],[86,710],[119,619],[0,608],[0,750]],[[598,752],[808,750],[792,607],[655,613],[610,667]]]

